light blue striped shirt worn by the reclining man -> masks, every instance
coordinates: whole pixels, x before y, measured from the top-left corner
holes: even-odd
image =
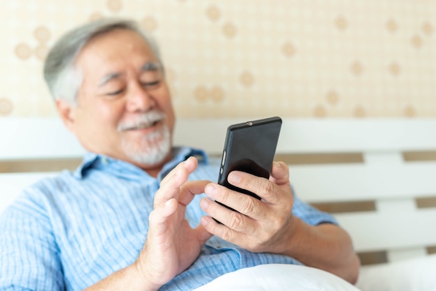
[[[203,151],[174,149],[159,177],[130,163],[87,154],[75,172],[42,179],[0,216],[0,290],[83,290],[132,264],[148,232],[148,215],[159,181],[181,161],[198,156],[189,179],[217,181],[218,165]],[[189,204],[192,226],[205,215]],[[294,215],[306,223],[335,223],[334,218],[295,198]],[[192,290],[214,278],[257,264],[299,264],[293,258],[251,253],[218,237],[210,238],[189,269],[161,290]]]

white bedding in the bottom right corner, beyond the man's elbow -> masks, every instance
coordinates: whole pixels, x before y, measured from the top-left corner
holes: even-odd
[[[361,267],[357,287],[364,291],[436,290],[436,255]]]

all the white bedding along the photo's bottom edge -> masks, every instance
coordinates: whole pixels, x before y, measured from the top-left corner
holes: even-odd
[[[195,291],[436,291],[436,254],[361,267],[357,285],[311,267],[262,264],[224,274]]]

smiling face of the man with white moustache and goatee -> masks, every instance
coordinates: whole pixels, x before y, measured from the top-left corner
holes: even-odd
[[[75,62],[83,77],[69,128],[98,154],[145,170],[170,158],[174,112],[162,68],[133,31],[93,38]]]

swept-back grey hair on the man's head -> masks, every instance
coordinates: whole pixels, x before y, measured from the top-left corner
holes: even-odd
[[[157,45],[139,28],[137,22],[114,18],[96,20],[65,33],[47,54],[44,64],[44,78],[54,99],[66,100],[72,105],[77,104],[77,93],[83,77],[81,72],[75,68],[76,58],[84,46],[95,36],[114,29],[127,29],[138,33],[150,46],[157,61],[162,66]]]

